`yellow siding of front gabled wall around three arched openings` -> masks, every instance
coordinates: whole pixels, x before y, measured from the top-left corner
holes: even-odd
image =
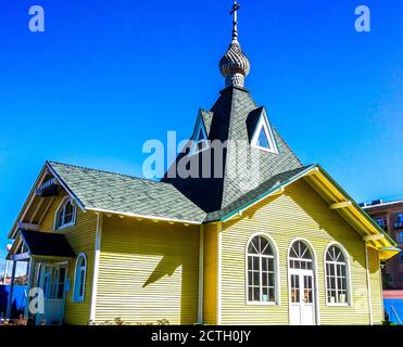
[[[245,304],[245,245],[249,237],[256,232],[267,233],[278,248],[280,271],[278,306]],[[284,195],[270,197],[248,210],[243,218],[223,226],[222,323],[289,323],[287,253],[295,237],[308,240],[315,252],[320,323],[368,324],[364,243],[358,233],[338,213],[331,210],[304,181],[293,183]],[[327,306],[325,301],[324,253],[333,241],[340,242],[350,256],[352,305],[348,307]],[[373,301],[378,303],[381,300],[381,283],[375,269],[371,271]],[[374,316],[379,318],[381,314],[379,305],[373,307]]]

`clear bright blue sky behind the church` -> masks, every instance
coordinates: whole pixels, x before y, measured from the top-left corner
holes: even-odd
[[[28,30],[28,9],[46,31]],[[371,31],[354,10],[371,10]],[[403,198],[403,2],[244,0],[247,88],[304,164],[358,202]],[[0,258],[46,159],[141,176],[149,139],[190,137],[224,87],[230,0],[4,0]],[[0,260],[1,264],[1,260]],[[1,271],[2,265],[0,265]]]

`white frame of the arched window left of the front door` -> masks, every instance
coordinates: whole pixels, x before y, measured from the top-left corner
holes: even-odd
[[[274,279],[275,279],[275,300],[274,301],[250,301],[249,300],[249,253],[248,248],[252,240],[256,236],[263,236],[267,240],[269,245],[272,246],[274,256]],[[259,256],[259,255],[251,255],[251,256]],[[267,233],[264,232],[257,232],[251,235],[247,242],[245,248],[244,248],[244,268],[245,268],[245,305],[248,306],[280,306],[280,270],[279,270],[279,259],[278,259],[278,250],[277,245],[274,242],[273,237],[270,237]],[[262,274],[261,274],[261,283],[262,283]]]

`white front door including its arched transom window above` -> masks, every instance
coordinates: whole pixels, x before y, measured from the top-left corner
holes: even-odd
[[[315,325],[315,272],[312,253],[303,241],[289,253],[290,324]]]

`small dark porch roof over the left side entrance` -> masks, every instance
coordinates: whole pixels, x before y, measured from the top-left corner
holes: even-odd
[[[21,230],[17,239],[20,237],[26,245],[30,257],[76,257],[71,244],[63,234]],[[14,244],[18,244],[18,242],[15,242]],[[12,258],[14,253],[13,250],[15,252],[16,249],[11,249],[8,258]]]

